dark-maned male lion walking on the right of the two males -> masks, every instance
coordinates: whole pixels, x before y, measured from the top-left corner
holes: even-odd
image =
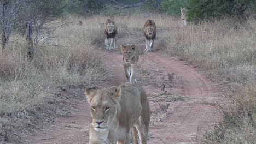
[[[145,51],[153,51],[154,40],[156,36],[156,26],[153,20],[147,20],[144,25],[144,35],[146,38]]]

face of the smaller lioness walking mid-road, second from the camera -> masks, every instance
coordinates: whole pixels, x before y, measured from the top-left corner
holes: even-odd
[[[123,53],[124,63],[130,63],[135,57],[135,45],[124,46],[121,45],[121,52]]]

